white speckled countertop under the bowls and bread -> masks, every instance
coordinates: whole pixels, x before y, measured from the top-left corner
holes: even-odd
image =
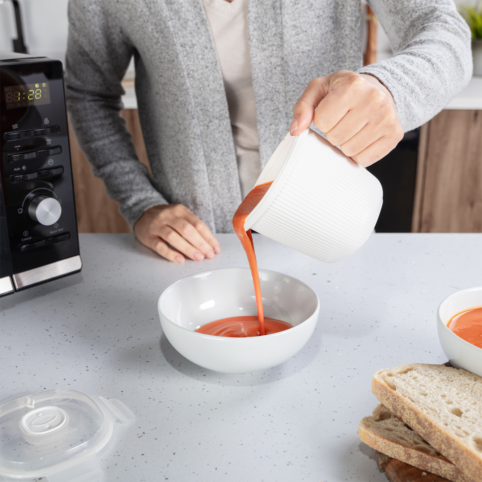
[[[202,263],[170,264],[129,234],[81,234],[82,272],[1,299],[1,400],[73,388],[135,413],[98,460],[105,481],[387,481],[357,436],[377,402],[371,376],[442,363],[436,310],[481,284],[480,234],[373,234],[324,264],[254,235],[260,268],[308,283],[317,329],[293,359],[224,375],[162,335],[157,299],[177,279],[247,266],[234,234]]]

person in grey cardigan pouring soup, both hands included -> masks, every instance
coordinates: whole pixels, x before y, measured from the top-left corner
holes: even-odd
[[[394,56],[362,67],[360,0],[70,0],[67,105],[137,239],[177,263],[220,252],[288,130],[312,121],[363,166],[472,74],[451,0],[370,0]],[[119,111],[131,57],[152,177]]]

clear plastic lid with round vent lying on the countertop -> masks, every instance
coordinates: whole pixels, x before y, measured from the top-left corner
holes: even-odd
[[[116,420],[133,419],[119,400],[70,389],[29,392],[1,402],[0,475],[4,480],[100,480],[97,453]]]

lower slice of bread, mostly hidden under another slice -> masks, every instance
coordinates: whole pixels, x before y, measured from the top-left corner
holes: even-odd
[[[470,481],[464,472],[382,404],[375,408],[373,415],[362,418],[358,435],[362,442],[378,452],[417,469],[426,470],[452,482]]]

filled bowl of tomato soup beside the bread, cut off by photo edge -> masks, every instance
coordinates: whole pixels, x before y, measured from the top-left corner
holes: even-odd
[[[482,376],[482,286],[445,298],[437,310],[437,331],[452,366]]]

